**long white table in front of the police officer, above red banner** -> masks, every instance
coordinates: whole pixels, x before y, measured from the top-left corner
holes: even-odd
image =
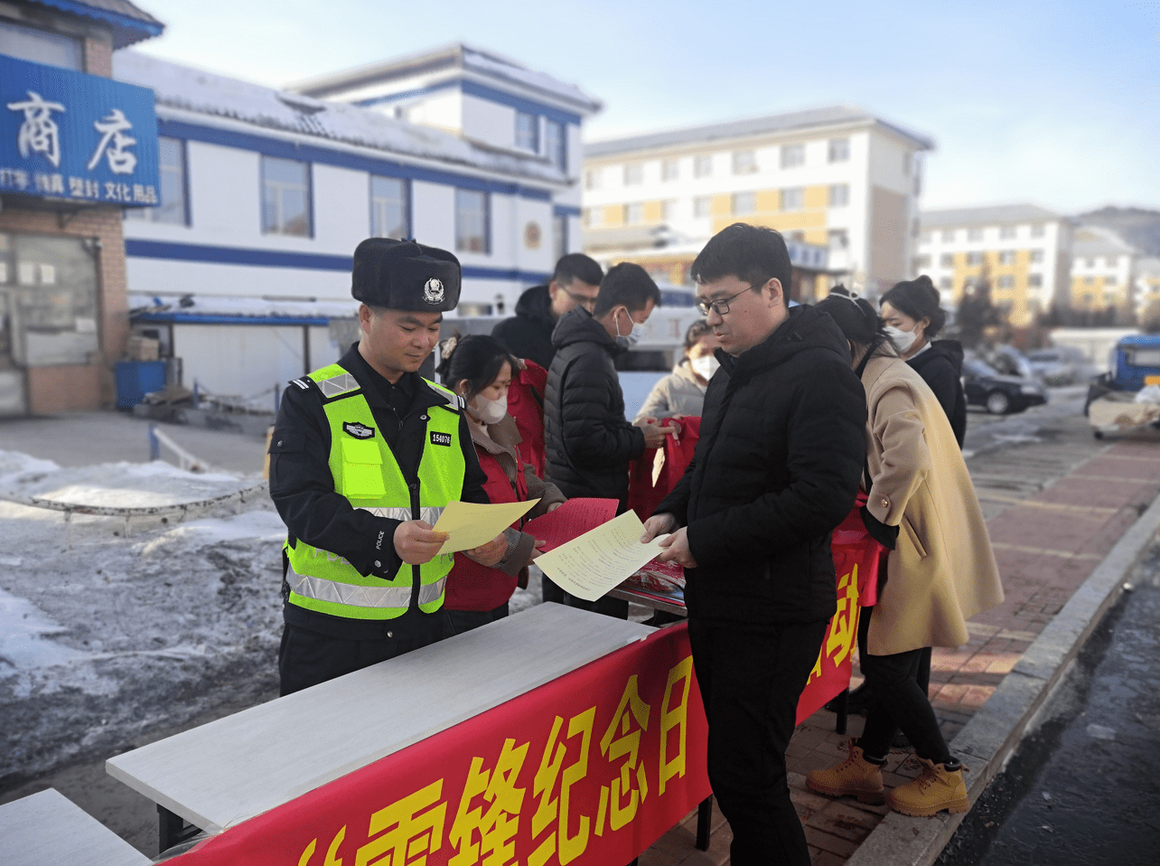
[[[539,605],[118,755],[106,768],[158,803],[164,851],[180,840],[181,820],[220,832],[653,630]]]

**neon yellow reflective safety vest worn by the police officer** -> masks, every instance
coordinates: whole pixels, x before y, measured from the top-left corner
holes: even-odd
[[[465,462],[459,438],[463,405],[452,391],[423,382],[447,398],[447,405],[429,406],[423,414],[427,432],[419,461],[418,484],[407,485],[371,413],[358,382],[334,363],[314,370],[312,380],[322,395],[322,410],[331,426],[331,474],[336,492],[356,508],[394,520],[426,520],[432,526],[443,507],[463,495]],[[383,539],[393,544],[393,539]],[[393,620],[411,607],[412,590],[419,587],[419,609],[434,613],[443,606],[443,585],[455,564],[451,555],[436,556],[422,565],[403,563],[390,580],[365,577],[338,554],[312,547],[302,539],[287,540],[287,583],[290,604],[309,611],[357,620]]]

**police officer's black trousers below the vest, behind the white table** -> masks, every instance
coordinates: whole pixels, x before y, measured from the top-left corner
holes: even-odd
[[[361,671],[451,635],[445,611],[408,611],[384,623],[383,637],[351,641],[285,623],[278,647],[281,694],[293,694],[335,677]]]

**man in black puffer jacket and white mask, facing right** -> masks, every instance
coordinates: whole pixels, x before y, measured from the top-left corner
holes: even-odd
[[[676,428],[624,417],[624,392],[612,360],[639,339],[644,323],[660,302],[660,289],[639,265],[611,268],[600,284],[595,309],[565,313],[552,342],[556,358],[548,370],[544,397],[544,472],[568,497],[617,499],[628,507],[629,463],[645,448],[659,448]],[[544,600],[565,601],[546,576]],[[575,607],[626,615],[617,599],[567,600]]]

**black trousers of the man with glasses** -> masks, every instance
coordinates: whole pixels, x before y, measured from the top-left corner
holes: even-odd
[[[733,831],[733,866],[810,864],[790,802],[785,748],[825,634],[825,620],[719,626],[689,618],[709,720],[709,781]]]

